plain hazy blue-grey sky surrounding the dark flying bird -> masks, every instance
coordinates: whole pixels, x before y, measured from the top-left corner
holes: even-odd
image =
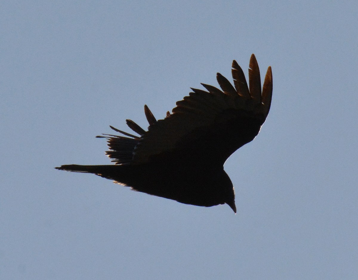
[[[356,1],[1,1],[1,279],[358,279]],[[55,170],[110,164],[200,83],[272,67],[270,114],[198,207]]]

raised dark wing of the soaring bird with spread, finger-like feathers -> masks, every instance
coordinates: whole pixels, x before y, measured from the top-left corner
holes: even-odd
[[[234,151],[256,137],[269,113],[272,97],[271,67],[261,92],[255,55],[250,59],[249,87],[235,60],[232,77],[234,86],[217,74],[222,90],[207,84],[202,84],[207,91],[192,88],[193,92],[176,102],[172,114],[168,112],[165,119],[156,121],[145,106],[148,131],[127,120],[140,137],[115,129],[130,138],[107,135],[111,151],[106,153],[117,164],[141,164],[156,159],[223,164]]]

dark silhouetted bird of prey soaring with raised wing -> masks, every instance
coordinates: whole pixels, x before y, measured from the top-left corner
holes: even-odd
[[[235,60],[233,85],[220,73],[221,89],[203,84],[176,102],[171,113],[157,120],[147,105],[146,130],[127,119],[136,134],[111,129],[121,135],[102,134],[115,164],[55,167],[58,170],[93,173],[132,190],[188,205],[227,204],[236,213],[233,184],[224,171],[227,158],[259,133],[269,114],[272,70],[268,67],[261,91],[260,70],[252,54],[248,81]]]

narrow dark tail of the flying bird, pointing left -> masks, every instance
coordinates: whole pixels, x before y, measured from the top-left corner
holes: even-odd
[[[121,165],[78,165],[78,164],[68,164],[61,165],[60,167],[55,167],[58,170],[72,171],[72,172],[82,172],[82,173],[92,173],[103,178],[118,180],[118,177],[121,177],[123,173],[123,167]]]

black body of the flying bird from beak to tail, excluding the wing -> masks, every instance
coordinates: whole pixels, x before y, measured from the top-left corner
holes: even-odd
[[[130,186],[133,190],[185,204],[207,207],[224,203],[231,207],[235,205],[233,186],[223,166],[193,164],[183,168],[183,165],[172,162],[137,165],[71,164],[61,169],[94,173],[121,185]],[[228,187],[225,188],[226,186]],[[232,199],[229,201],[227,197]]]

